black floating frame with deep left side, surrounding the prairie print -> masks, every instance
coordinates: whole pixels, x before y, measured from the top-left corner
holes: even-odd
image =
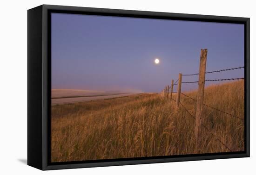
[[[51,105],[51,46],[50,13],[94,14],[104,16],[176,19],[244,24],[245,75],[245,151],[122,158],[94,161],[50,162],[50,105]],[[143,163],[179,162],[208,159],[249,157],[249,18],[145,12],[88,8],[75,6],[41,5],[27,11],[27,164],[41,170],[73,169]]]

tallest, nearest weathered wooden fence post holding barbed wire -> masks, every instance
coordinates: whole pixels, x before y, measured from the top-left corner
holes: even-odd
[[[203,94],[204,94],[204,82],[205,82],[205,70],[206,70],[207,49],[201,49],[200,66],[199,66],[199,80],[197,89],[197,102],[195,112],[195,138],[196,138],[196,150],[199,148],[201,142],[201,130],[202,130],[202,111],[203,111]]]

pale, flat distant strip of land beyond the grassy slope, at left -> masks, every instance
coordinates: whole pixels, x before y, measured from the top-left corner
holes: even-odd
[[[76,103],[91,100],[104,100],[123,96],[129,96],[137,93],[127,92],[106,92],[79,89],[52,89],[52,105]]]

